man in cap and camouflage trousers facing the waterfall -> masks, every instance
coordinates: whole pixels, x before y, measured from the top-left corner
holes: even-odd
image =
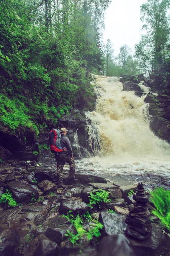
[[[75,171],[76,171],[76,165],[75,165],[75,160],[73,157],[73,151],[71,148],[70,140],[68,137],[66,137],[67,134],[67,129],[66,128],[61,128],[61,146],[63,151],[62,152],[56,152],[55,158],[57,161],[57,177],[58,177],[58,186],[62,186],[62,171],[66,163],[69,163],[70,165],[70,171],[68,175],[68,183],[74,183],[75,181]]]

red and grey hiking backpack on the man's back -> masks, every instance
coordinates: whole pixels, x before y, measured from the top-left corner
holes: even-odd
[[[61,146],[61,132],[59,129],[52,129],[49,134],[49,145],[51,153],[55,152],[62,152],[62,146]]]

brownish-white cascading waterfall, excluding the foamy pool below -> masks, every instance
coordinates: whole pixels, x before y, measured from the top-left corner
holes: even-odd
[[[96,110],[88,112],[89,145],[96,155],[110,157],[164,158],[170,154],[170,145],[156,137],[149,127],[149,105],[146,96],[138,97],[133,91],[122,91],[116,77],[96,78],[100,97]],[[140,84],[144,92],[149,87]],[[146,94],[145,93],[145,94]]]

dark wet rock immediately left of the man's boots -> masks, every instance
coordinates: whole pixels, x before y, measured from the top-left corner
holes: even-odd
[[[52,182],[57,182],[57,166],[54,170],[48,170],[43,168],[37,168],[34,170],[35,177],[38,181],[51,180]]]

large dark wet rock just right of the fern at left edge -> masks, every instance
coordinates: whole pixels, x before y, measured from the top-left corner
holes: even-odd
[[[37,190],[24,181],[11,181],[8,183],[8,189],[17,203],[31,203],[32,198],[35,200],[39,198]]]

